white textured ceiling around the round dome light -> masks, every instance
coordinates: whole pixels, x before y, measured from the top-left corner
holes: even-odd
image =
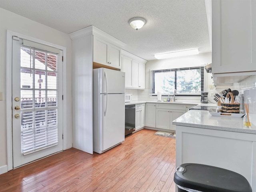
[[[93,25],[146,60],[198,48],[211,52],[204,0],[0,0],[0,7],[64,33]],[[138,31],[130,18],[143,17]]]

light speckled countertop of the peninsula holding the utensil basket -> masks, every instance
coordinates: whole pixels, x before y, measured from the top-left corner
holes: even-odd
[[[255,125],[252,125],[251,128],[244,128],[243,118],[241,117],[212,116],[209,111],[204,110],[190,110],[172,121],[172,124],[186,127],[256,134]]]

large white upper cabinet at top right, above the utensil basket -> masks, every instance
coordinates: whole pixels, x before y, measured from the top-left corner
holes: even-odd
[[[256,1],[212,0],[212,73],[256,71]]]

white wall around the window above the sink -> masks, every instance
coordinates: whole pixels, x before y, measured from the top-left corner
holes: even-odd
[[[190,55],[185,57],[176,57],[170,59],[159,59],[152,60],[146,63],[146,89],[138,90],[138,100],[156,101],[156,96],[149,96],[150,93],[150,69],[170,69],[170,68],[182,68],[182,67],[193,67],[199,66],[206,63],[212,63],[212,53],[200,53],[198,55]],[[218,92],[216,89],[210,90],[210,85],[213,85],[211,79],[211,73],[206,74],[206,91]],[[167,97],[162,97],[167,98]],[[176,97],[177,101],[192,101],[200,102],[201,97]],[[209,97],[209,101],[215,103],[213,98]]]

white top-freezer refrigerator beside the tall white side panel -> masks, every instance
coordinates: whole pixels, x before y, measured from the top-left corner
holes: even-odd
[[[124,141],[125,73],[93,69],[93,151],[97,153]]]

